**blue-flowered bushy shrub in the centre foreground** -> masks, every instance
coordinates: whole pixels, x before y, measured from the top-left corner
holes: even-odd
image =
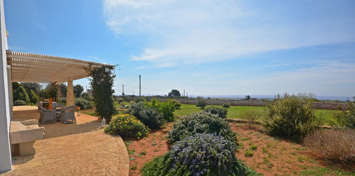
[[[235,156],[235,145],[221,136],[196,134],[175,143],[168,153],[146,163],[142,176],[257,175]]]

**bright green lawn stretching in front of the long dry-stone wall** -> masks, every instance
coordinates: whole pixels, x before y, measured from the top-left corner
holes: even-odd
[[[209,106],[207,106],[209,107]],[[222,106],[218,106],[222,107]],[[227,117],[230,119],[243,119],[243,117],[240,116],[241,112],[244,112],[246,110],[256,110],[259,112],[264,112],[264,107],[258,107],[258,106],[230,106],[228,108],[228,114]],[[201,112],[202,110],[196,105],[188,105],[188,104],[181,104],[180,109],[175,110],[174,114],[177,116],[183,116],[186,114],[192,114],[193,112]],[[316,110],[316,115],[319,116],[322,114],[324,118],[326,119],[326,122],[324,125],[329,125],[329,121],[336,122],[334,117],[333,117],[333,112],[338,112],[337,110],[326,110],[326,109],[317,109]]]

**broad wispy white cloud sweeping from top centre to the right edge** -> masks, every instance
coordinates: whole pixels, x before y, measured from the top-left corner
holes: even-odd
[[[297,13],[296,7],[293,10]],[[250,8],[233,1],[105,0],[104,12],[107,26],[118,37],[151,36],[148,46],[131,60],[151,61],[157,67],[355,41],[350,32],[354,21],[336,15],[299,21],[273,8]]]

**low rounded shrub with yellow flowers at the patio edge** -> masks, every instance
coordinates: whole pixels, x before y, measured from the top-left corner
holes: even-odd
[[[108,126],[105,127],[105,133],[132,136],[138,139],[148,136],[149,128],[130,114],[115,115],[111,118]]]

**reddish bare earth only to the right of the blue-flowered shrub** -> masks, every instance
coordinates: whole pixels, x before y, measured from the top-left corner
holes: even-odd
[[[230,123],[238,133],[237,158],[265,176],[269,175],[354,175],[354,167],[340,169],[316,158],[310,149],[287,139],[265,134],[261,126],[249,129],[241,123]],[[252,146],[252,147],[251,147]],[[251,150],[254,148],[256,150]],[[245,156],[245,150],[252,156]]]

